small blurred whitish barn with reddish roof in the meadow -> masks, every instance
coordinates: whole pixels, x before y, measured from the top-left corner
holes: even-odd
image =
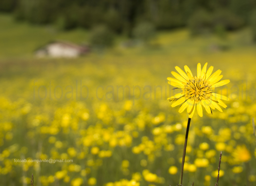
[[[37,57],[78,57],[89,52],[89,47],[66,41],[52,41],[35,51]]]

